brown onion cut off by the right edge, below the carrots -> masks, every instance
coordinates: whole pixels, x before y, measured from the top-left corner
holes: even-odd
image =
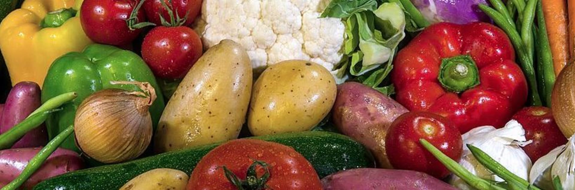
[[[551,94],[551,110],[565,137],[575,133],[575,65],[568,64],[555,81]]]

